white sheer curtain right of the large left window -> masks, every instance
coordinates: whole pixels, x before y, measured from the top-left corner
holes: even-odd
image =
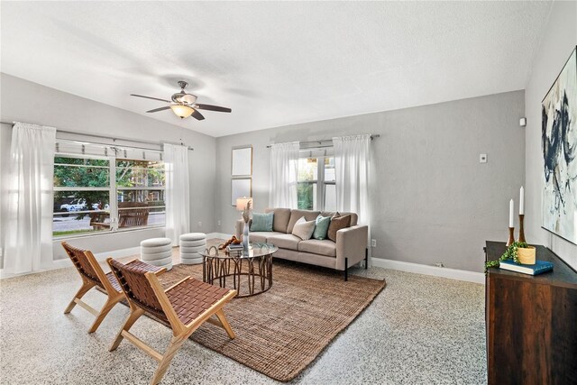
[[[164,144],[166,175],[166,236],[173,245],[190,228],[190,188],[188,185],[188,148]]]

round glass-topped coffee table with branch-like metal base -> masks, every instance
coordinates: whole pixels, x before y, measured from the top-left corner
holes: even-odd
[[[279,248],[270,243],[251,243],[249,255],[215,247],[201,252],[203,280],[237,291],[236,297],[252,297],[272,287],[272,254]]]

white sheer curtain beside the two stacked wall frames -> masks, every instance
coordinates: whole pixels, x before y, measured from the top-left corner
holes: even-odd
[[[298,150],[298,142],[270,146],[270,207],[298,208]]]

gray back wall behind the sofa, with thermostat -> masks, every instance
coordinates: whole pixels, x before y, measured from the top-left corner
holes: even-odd
[[[507,239],[508,200],[525,181],[523,91],[217,138],[218,231],[234,233],[231,149],[252,144],[255,210],[268,206],[273,142],[380,133],[372,142],[372,255],[482,271],[485,240]],[[479,163],[480,153],[489,162]]]

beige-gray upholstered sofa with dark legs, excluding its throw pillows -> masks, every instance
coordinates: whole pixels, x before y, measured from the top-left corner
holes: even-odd
[[[289,208],[267,208],[265,212],[274,212],[272,232],[251,232],[251,242],[272,243],[279,247],[274,253],[274,258],[289,261],[304,262],[316,266],[323,266],[334,270],[344,271],[344,280],[347,280],[349,267],[365,260],[367,267],[367,236],[368,227],[357,225],[358,215],[351,214],[351,226],[339,230],[336,233],[336,243],[333,241],[309,239],[303,241],[298,236],[291,234],[298,219],[302,216],[307,221],[316,219],[317,215],[332,216],[334,213],[291,210]],[[236,237],[240,239],[243,234],[244,222],[242,219],[236,223]]]

